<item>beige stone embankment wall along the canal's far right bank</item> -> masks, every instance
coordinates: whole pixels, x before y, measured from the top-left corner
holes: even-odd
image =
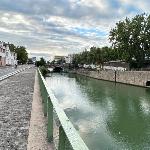
[[[112,71],[112,70],[88,71],[80,69],[73,71],[72,73],[77,73],[100,80],[107,80],[142,87],[150,86],[149,71]]]

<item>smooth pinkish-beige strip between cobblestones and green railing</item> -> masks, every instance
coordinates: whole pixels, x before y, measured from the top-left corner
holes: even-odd
[[[28,150],[52,150],[52,144],[47,142],[46,117],[43,114],[37,73],[35,76],[34,94],[32,102]]]

